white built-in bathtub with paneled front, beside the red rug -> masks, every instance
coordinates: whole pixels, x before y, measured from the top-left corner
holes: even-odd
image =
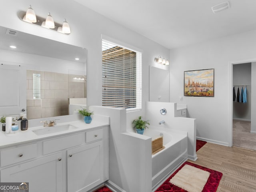
[[[163,136],[165,148],[152,155],[152,191],[164,182],[171,172],[188,158],[187,132],[169,128],[150,127],[144,131],[152,140]]]

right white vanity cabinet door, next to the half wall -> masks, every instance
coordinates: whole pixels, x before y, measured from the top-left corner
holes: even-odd
[[[68,192],[85,192],[103,183],[102,140],[67,150]]]

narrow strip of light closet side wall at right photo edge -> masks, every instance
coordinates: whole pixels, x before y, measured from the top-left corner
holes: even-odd
[[[252,62],[251,133],[256,133],[256,62]]]

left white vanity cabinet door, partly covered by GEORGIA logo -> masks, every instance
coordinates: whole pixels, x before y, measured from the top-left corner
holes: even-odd
[[[27,182],[31,192],[63,192],[62,159],[62,154],[58,153],[11,166],[0,171],[0,180]]]

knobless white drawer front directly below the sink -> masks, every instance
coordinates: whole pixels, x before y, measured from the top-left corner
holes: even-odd
[[[74,134],[43,142],[43,154],[64,150],[84,143],[84,134]]]

